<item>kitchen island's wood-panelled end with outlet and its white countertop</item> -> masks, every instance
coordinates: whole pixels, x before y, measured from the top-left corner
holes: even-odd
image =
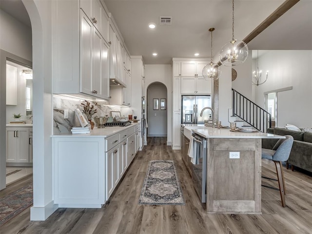
[[[207,139],[207,213],[261,214],[261,139],[285,137],[210,127],[193,132]]]

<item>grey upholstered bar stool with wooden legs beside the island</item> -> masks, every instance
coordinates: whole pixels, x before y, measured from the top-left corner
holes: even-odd
[[[275,163],[277,179],[264,177],[264,176],[262,177],[266,179],[273,179],[273,180],[278,181],[279,189],[266,186],[266,185],[262,185],[262,186],[270,188],[270,189],[279,190],[283,207],[286,206],[286,201],[285,201],[286,188],[285,188],[284,174],[282,170],[282,162],[286,162],[288,160],[289,155],[292,150],[292,143],[293,143],[292,136],[286,135],[285,137],[286,138],[279,139],[276,142],[276,144],[273,146],[272,150],[262,148],[262,154],[261,154],[262,158],[272,160]]]

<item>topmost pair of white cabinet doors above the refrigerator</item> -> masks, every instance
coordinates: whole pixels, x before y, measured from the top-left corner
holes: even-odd
[[[182,61],[181,62],[181,76],[182,77],[202,77],[204,66],[208,61]],[[174,70],[175,76],[176,68]]]

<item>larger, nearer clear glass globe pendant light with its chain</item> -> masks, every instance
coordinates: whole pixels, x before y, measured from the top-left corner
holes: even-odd
[[[219,59],[225,66],[243,63],[248,56],[248,46],[242,40],[234,39],[234,0],[232,0],[232,40],[226,43],[219,52]]]

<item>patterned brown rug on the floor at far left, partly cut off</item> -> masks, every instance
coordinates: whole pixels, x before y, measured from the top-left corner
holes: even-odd
[[[0,227],[33,204],[33,184],[0,198]]]

